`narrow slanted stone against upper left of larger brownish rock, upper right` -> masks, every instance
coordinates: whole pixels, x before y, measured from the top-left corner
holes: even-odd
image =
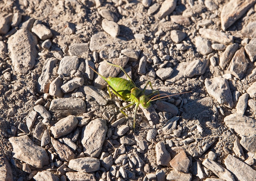
[[[226,50],[220,55],[220,68],[224,70],[226,66],[231,61],[232,57],[234,56],[236,50],[238,49],[238,44],[234,43],[227,46]]]

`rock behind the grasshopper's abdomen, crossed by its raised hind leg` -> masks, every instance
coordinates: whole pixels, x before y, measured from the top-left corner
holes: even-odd
[[[108,62],[113,63],[115,65],[120,65],[121,67],[124,68],[126,63],[128,62],[129,57],[122,57],[122,58],[116,58],[116,59],[109,59]],[[120,68],[117,68],[115,66],[109,65],[106,61],[102,61],[99,63],[99,68],[98,72],[104,77],[115,77],[119,74]],[[106,87],[107,82],[103,80],[100,76],[94,75],[95,80],[94,80],[94,86],[98,87],[100,89],[103,89]]]

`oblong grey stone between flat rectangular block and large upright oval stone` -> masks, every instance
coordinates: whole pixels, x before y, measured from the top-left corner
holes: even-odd
[[[78,124],[78,120],[74,115],[67,116],[51,126],[50,131],[55,138],[59,138],[71,133]]]

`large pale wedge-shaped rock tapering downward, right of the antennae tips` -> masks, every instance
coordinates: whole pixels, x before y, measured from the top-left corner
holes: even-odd
[[[229,83],[222,77],[213,77],[204,81],[207,92],[211,94],[220,104],[229,108],[234,106]]]

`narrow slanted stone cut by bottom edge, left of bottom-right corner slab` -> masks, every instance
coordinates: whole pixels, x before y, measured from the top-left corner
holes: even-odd
[[[202,162],[203,166],[211,170],[214,174],[216,174],[220,179],[223,179],[225,181],[236,181],[234,178],[234,175],[229,172],[226,168],[223,168],[219,164],[217,164],[215,161],[205,159]]]

